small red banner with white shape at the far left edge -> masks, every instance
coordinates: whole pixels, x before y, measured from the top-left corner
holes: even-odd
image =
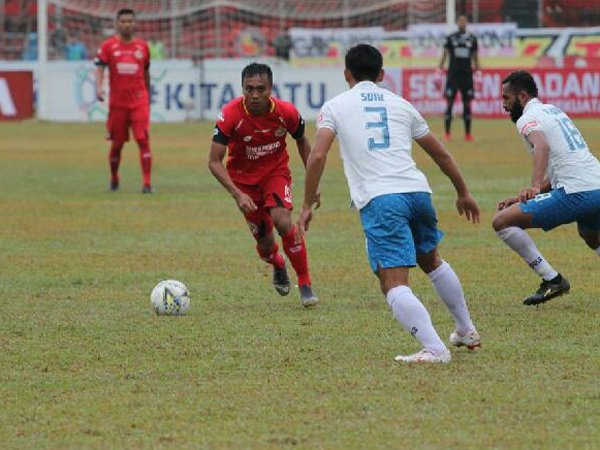
[[[33,117],[33,74],[0,72],[0,121]]]

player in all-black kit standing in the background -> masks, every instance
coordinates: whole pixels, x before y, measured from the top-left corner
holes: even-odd
[[[458,31],[448,35],[444,44],[444,53],[439,69],[444,70],[446,58],[449,58],[448,74],[446,77],[446,113],[444,114],[444,128],[446,140],[450,140],[450,124],[452,123],[452,106],[456,98],[456,91],[460,90],[463,101],[463,119],[465,121],[465,140],[472,141],[471,135],[471,100],[473,100],[473,72],[479,71],[479,57],[477,56],[477,38],[472,33],[467,33],[467,17],[460,16],[457,21]]]

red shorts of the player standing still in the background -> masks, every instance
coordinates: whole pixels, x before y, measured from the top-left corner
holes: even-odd
[[[106,121],[107,139],[117,142],[129,140],[129,128],[133,131],[136,141],[148,139],[150,128],[150,107],[148,105],[137,108],[111,107]]]

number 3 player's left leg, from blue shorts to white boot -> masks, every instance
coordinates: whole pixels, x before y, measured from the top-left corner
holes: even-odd
[[[394,318],[423,346],[422,351],[398,355],[396,360],[449,362],[450,352],[433,327],[427,309],[408,286],[409,268],[416,265],[410,215],[410,205],[402,194],[376,197],[361,209],[367,256]]]

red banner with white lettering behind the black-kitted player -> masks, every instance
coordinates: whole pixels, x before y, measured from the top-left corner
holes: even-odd
[[[531,69],[538,96],[552,103],[571,117],[600,117],[600,70],[598,69]],[[475,80],[475,100],[471,105],[474,116],[506,117],[502,109],[502,80],[511,70],[483,70]],[[443,115],[445,79],[431,69],[404,69],[402,96],[424,115]],[[462,114],[460,94],[457,95],[454,114]]]

